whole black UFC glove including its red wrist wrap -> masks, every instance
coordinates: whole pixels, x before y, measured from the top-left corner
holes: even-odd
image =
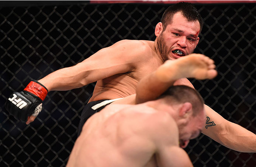
[[[22,122],[28,120],[28,116],[37,116],[42,110],[48,90],[36,80],[32,80],[21,92],[14,92],[6,101],[6,109]]]

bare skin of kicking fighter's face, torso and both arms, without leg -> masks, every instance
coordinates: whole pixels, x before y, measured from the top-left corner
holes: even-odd
[[[177,50],[184,56],[191,54],[199,41],[199,22],[188,22],[179,12],[166,26],[159,22],[155,28],[155,41],[121,40],[103,48],[83,62],[57,70],[39,80],[48,91],[71,90],[97,81],[91,101],[126,97],[135,93],[136,84],[143,76],[156,70],[168,59],[178,59]],[[172,73],[172,71],[170,71]],[[121,76],[123,74],[123,76]],[[174,85],[193,85],[186,78]],[[204,128],[203,134],[220,144],[239,152],[256,152],[256,135],[225,120],[205,105],[206,114],[215,126]],[[26,124],[34,121],[29,116]],[[207,126],[207,125],[205,125]]]

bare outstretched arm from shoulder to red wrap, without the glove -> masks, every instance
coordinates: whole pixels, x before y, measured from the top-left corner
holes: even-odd
[[[138,50],[141,50],[141,47],[138,46],[138,41],[119,41],[75,66],[57,70],[38,81],[48,91],[71,90],[118,73],[130,72],[140,61]]]

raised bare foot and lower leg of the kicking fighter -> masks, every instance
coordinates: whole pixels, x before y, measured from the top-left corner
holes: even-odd
[[[217,71],[214,61],[205,55],[191,54],[179,59],[167,60],[157,70],[139,81],[136,88],[135,103],[139,104],[158,98],[178,79],[203,80],[212,79],[215,76],[217,76]]]

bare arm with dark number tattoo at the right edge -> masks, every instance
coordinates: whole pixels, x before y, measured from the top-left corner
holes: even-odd
[[[205,111],[207,123],[202,131],[203,134],[230,149],[239,152],[256,152],[255,134],[224,119],[207,105]]]

